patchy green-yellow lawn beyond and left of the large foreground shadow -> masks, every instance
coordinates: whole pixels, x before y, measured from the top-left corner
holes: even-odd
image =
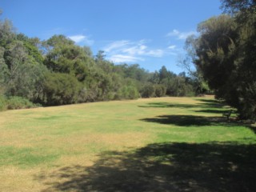
[[[256,144],[254,130],[222,118],[226,109],[207,97],[2,112],[0,182],[4,184],[0,191],[42,190],[45,184],[34,179],[38,175],[50,174],[58,167],[92,166],[106,151],[135,151],[166,142]],[[158,158],[155,160],[160,161]]]

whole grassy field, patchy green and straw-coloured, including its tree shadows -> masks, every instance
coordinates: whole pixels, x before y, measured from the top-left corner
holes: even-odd
[[[254,191],[256,134],[205,98],[0,113],[0,191]]]

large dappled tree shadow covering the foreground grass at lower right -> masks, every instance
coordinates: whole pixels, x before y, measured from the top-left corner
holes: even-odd
[[[253,192],[256,146],[235,142],[154,143],[99,154],[93,166],[67,166],[36,179],[43,191]]]

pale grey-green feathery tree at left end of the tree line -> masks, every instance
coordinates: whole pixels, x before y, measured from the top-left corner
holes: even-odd
[[[6,95],[36,101],[42,96],[40,84],[45,67],[30,58],[23,42],[13,42],[8,47],[9,50],[5,53],[5,61],[9,69],[5,73]]]

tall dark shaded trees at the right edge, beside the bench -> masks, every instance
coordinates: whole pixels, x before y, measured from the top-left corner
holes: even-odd
[[[198,24],[186,39],[184,66],[193,62],[216,98],[256,119],[256,1],[222,0],[224,14]],[[189,68],[189,67],[188,67]]]

